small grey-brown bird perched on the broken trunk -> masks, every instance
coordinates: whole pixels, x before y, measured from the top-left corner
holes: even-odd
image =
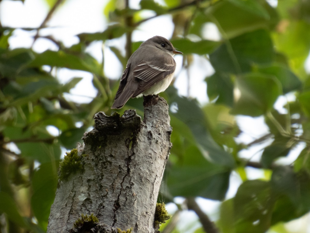
[[[111,108],[120,109],[130,98],[166,90],[175,71],[173,56],[179,53],[182,52],[162,36],[143,42],[127,62]]]

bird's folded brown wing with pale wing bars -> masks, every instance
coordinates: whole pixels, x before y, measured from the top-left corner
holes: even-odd
[[[137,78],[139,85],[132,95],[132,98],[143,93],[145,90],[163,80],[167,75],[172,74],[174,71],[175,60],[173,57],[166,62],[140,62],[133,69],[133,76]]]

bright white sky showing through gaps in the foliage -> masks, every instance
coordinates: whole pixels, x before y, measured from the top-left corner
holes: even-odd
[[[103,9],[107,1],[102,0],[67,0],[55,15],[49,21],[50,28],[40,31],[41,35],[52,35],[55,39],[61,40],[65,46],[71,46],[78,43],[76,34],[82,32],[99,32],[103,31],[107,26],[107,21],[103,15]],[[138,9],[139,0],[130,1],[131,7]],[[272,4],[277,3],[276,0],[270,0]],[[42,21],[46,17],[48,12],[48,6],[43,0],[25,0],[24,4],[21,1],[2,0],[0,2],[0,20],[3,26],[10,27],[33,27],[37,28],[41,25]],[[145,14],[150,13],[145,11]],[[164,27],[163,27],[164,25]],[[139,30],[135,30],[132,34],[133,41],[144,41],[154,35],[161,35],[166,38],[171,38],[173,31],[173,23],[171,17],[168,15],[156,17],[149,20],[139,26]],[[15,30],[14,35],[10,39],[10,48],[30,47],[33,43],[33,36],[35,31],[27,32],[24,30]],[[219,39],[219,33],[213,24],[206,24],[204,30],[204,39]],[[116,46],[124,53],[125,37],[108,41],[107,45]],[[101,42],[94,42],[87,49],[87,51],[94,56],[99,62],[102,59]],[[57,50],[58,48],[47,39],[38,39],[34,46],[34,51],[42,53],[47,49]],[[105,61],[105,73],[109,78],[119,79],[122,74],[122,66],[114,54],[108,49],[104,48],[104,61]],[[187,95],[187,71],[181,70],[182,56],[175,56],[177,62],[177,68],[175,74],[177,80],[175,86],[177,87],[180,95]],[[310,58],[308,58],[310,63]],[[310,67],[310,66],[309,66]],[[194,55],[193,66],[189,68],[190,74],[190,96],[197,98],[201,103],[206,103],[208,98],[206,96],[206,83],[204,81],[207,75],[211,75],[214,72],[210,63],[197,55]],[[310,68],[309,68],[310,72]],[[60,82],[66,83],[73,77],[83,77],[83,80],[72,90],[71,94],[67,95],[67,98],[73,98],[77,102],[90,102],[91,98],[95,97],[97,90],[92,85],[92,75],[84,71],[72,71],[69,69],[59,69],[57,77]],[[91,98],[80,96],[80,93],[87,93]],[[279,111],[284,111],[283,105],[290,97],[280,97],[275,107]],[[251,118],[246,116],[238,116],[237,123],[241,127],[243,133],[238,137],[239,142],[249,143],[260,136],[268,132],[268,127],[264,123],[263,117]],[[57,133],[57,132],[56,132]],[[270,142],[268,142],[270,143]],[[243,150],[240,156],[243,158],[252,159],[258,161],[261,155],[261,148],[265,144],[257,147],[252,147],[247,150]],[[292,153],[286,158],[285,163],[289,164],[294,161],[296,154],[304,147],[304,144],[299,144],[296,147],[296,152]],[[253,156],[254,155],[254,156]],[[250,179],[256,179],[262,177],[260,171],[257,169],[247,169],[247,174]],[[242,183],[240,177],[236,172],[233,172],[230,178],[230,189],[228,190],[227,198],[231,198],[237,192],[237,187]],[[177,199],[176,201],[182,201]],[[219,202],[210,201],[206,199],[198,199],[201,208],[209,214],[211,219],[216,220],[218,218]],[[174,211],[175,206],[168,205],[168,209],[171,212]],[[191,221],[196,221],[197,217],[189,212],[187,215],[181,216],[180,222],[185,225]],[[182,225],[183,226],[183,225]],[[199,224],[198,224],[199,226]],[[189,229],[188,233],[193,232],[197,226],[193,229]],[[182,227],[181,227],[182,229]]]

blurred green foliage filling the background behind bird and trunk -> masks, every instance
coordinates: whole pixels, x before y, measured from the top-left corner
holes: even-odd
[[[51,9],[48,21],[63,1],[46,2]],[[0,24],[0,232],[46,232],[61,148],[70,150],[81,142],[96,112],[112,112],[118,82],[109,80],[104,60],[100,64],[86,48],[93,41],[108,46],[106,42],[126,36],[126,56],[110,48],[125,66],[127,55],[140,44],[131,41],[131,33],[163,14],[170,14],[175,24],[171,42],[184,53],[184,68],[191,66],[193,56],[200,56],[214,73],[205,79],[210,103],[179,96],[172,86],[161,94],[170,105],[173,127],[161,196],[166,202],[176,196],[221,201],[216,227],[224,233],[289,232],[283,222],[310,211],[310,76],[305,70],[310,1],[270,1],[277,6],[267,0],[164,2],[141,0],[140,9],[130,9],[126,1],[110,0],[103,9],[109,21],[103,32],[78,34],[79,43],[69,48],[45,37],[58,51],[11,49],[9,39],[16,29]],[[145,10],[154,16],[145,18]],[[210,23],[219,30],[220,40],[205,37]],[[62,68],[91,73],[96,98],[87,104],[66,98],[81,78],[61,84],[57,71]],[[274,107],[280,96],[290,96],[283,106],[286,113]],[[143,114],[141,99],[129,100],[119,112],[129,108]],[[268,132],[249,144],[240,143],[237,115],[263,117]],[[58,133],[52,135],[51,126]],[[241,158],[241,150],[262,143],[260,161]],[[298,144],[304,148],[294,162],[278,162]],[[252,180],[247,167],[269,175]],[[243,183],[234,197],[225,199],[232,172]],[[161,231],[193,232],[190,226],[178,230],[173,219]]]

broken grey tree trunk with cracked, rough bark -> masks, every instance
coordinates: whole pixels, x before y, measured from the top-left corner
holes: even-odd
[[[145,98],[144,122],[135,110],[122,117],[97,113],[85,146],[77,148],[83,169],[59,181],[47,232],[68,232],[81,214],[92,213],[100,224],[89,232],[157,232],[154,213],[170,134],[168,105],[158,96]]]

